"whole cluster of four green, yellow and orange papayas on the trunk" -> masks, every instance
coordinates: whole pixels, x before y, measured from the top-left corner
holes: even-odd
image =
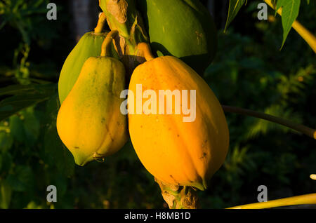
[[[137,3],[150,37],[150,43],[136,46],[145,62],[126,79],[113,44],[117,30],[96,33],[96,29],[82,36],[60,73],[58,134],[78,165],[103,160],[130,138],[138,158],[158,180],[204,190],[223,164],[229,145],[223,109],[199,75],[216,52],[215,25],[199,1]],[[124,100],[121,93],[126,86],[129,91]],[[145,95],[150,100],[134,104],[138,86],[143,88],[141,97],[144,90],[150,90]],[[161,90],[177,91],[182,101],[177,104],[175,94],[171,95],[175,100],[163,100],[159,108],[153,107],[166,96],[159,95]],[[194,94],[188,97],[186,90]],[[122,112],[124,102],[127,114]],[[184,121],[187,112],[177,108],[185,104],[194,109],[190,121]],[[144,113],[143,108],[150,112]]]

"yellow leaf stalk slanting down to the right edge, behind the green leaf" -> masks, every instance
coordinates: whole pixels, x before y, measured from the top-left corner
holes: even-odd
[[[271,8],[275,10],[275,6],[272,4],[271,0],[264,1],[266,4],[268,4]],[[282,16],[282,8],[279,8],[277,13]],[[310,48],[312,48],[312,50],[314,50],[314,52],[316,53],[316,37],[311,32],[309,32],[308,29],[303,27],[303,25],[301,25],[301,23],[297,20],[293,22],[292,27],[296,30],[296,32],[298,32],[298,34],[306,41],[306,43],[308,43]]]

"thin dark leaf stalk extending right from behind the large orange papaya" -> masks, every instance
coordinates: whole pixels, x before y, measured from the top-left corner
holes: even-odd
[[[249,109],[242,109],[239,107],[231,107],[231,106],[227,106],[227,105],[222,105],[224,112],[232,112],[232,113],[236,113],[236,114],[244,114],[246,116],[253,116],[256,117],[258,119],[264,119],[267,121],[271,121],[274,123],[277,123],[279,125],[282,126],[286,126],[288,128],[291,128],[293,130],[296,130],[300,133],[303,133],[305,135],[308,135],[309,137],[312,137],[314,140],[316,140],[316,130],[312,129],[312,128],[308,128],[306,126],[303,126],[301,124],[298,123],[293,123],[287,119],[282,119],[276,116],[272,116],[270,114],[265,114],[262,112],[254,112],[251,111]]]

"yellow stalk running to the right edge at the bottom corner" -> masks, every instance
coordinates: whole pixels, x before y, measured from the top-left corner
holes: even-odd
[[[305,194],[301,196],[292,196],[289,198],[275,199],[267,202],[249,203],[246,205],[239,205],[226,209],[263,209],[303,204],[316,204],[316,194]]]

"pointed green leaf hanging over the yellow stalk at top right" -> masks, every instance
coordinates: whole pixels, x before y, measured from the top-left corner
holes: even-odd
[[[300,9],[301,0],[278,0],[275,11],[279,10],[282,7],[282,27],[283,27],[283,48],[285,41],[287,40],[287,36],[291,30],[293,22],[296,20],[298,16],[298,12]]]

